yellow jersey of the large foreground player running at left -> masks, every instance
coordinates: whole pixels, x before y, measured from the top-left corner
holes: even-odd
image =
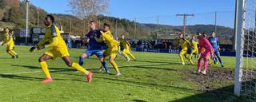
[[[46,45],[46,48],[53,48],[57,51],[66,49],[66,42],[62,38],[58,27],[54,25],[46,27],[45,37],[38,42],[38,45]]]

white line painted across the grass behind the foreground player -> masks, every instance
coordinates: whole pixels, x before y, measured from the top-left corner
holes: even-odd
[[[164,65],[164,64],[169,64],[169,63],[143,64],[143,65]],[[132,66],[141,66],[141,65],[122,65],[119,67],[132,67]],[[109,68],[113,68],[113,67],[109,67]],[[92,69],[98,69],[98,67],[97,68],[95,67]],[[50,70],[50,72],[62,72],[62,71],[67,71],[67,70],[70,70],[70,69],[52,69],[52,70]],[[20,73],[0,73],[0,75],[18,75],[18,74],[26,74],[26,73],[41,73],[41,72],[42,72],[42,70],[31,71],[31,72],[20,72]]]

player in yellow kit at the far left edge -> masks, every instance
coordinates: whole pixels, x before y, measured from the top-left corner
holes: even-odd
[[[18,54],[14,51],[14,39],[12,33],[10,33],[10,29],[7,27],[4,31],[5,33],[2,45],[6,45],[6,52],[9,53],[11,57],[18,58]]]

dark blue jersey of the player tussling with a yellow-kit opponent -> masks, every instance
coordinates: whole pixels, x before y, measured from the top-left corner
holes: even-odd
[[[101,35],[100,30],[98,29],[91,30],[89,33],[86,34],[86,37],[90,39],[89,49],[102,50],[102,45],[94,39],[94,37],[98,35]]]

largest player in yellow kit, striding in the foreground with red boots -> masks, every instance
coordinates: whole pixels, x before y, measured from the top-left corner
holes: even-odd
[[[53,23],[54,17],[52,15],[47,15],[44,21],[44,24],[46,25],[45,37],[43,37],[43,39],[39,41],[37,45],[30,48],[30,52],[33,52],[34,49],[41,50],[45,48],[52,48],[38,59],[42,67],[42,72],[46,75],[46,79],[42,80],[41,82],[48,83],[53,81],[50,76],[48,66],[46,65],[46,61],[49,59],[54,60],[57,57],[62,57],[62,60],[65,61],[66,65],[84,73],[87,81],[90,82],[92,80],[93,73],[86,71],[86,69],[82,68],[82,66],[71,61],[66,43],[63,40],[58,27],[54,26]]]

